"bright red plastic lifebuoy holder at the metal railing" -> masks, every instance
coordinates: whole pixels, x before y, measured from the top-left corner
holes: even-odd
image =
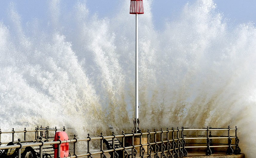
[[[59,136],[60,136],[61,141],[67,141],[68,140],[67,133],[64,132],[64,131],[61,131],[61,132],[56,132],[55,137],[54,137],[54,141],[59,140]],[[60,145],[60,155],[58,155],[58,145],[54,144],[53,147],[54,147],[54,158],[68,157],[69,143],[62,143]]]

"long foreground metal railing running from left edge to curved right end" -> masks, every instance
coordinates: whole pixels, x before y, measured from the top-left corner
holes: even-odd
[[[45,130],[37,130],[37,132],[41,132]],[[3,133],[3,132],[2,132]],[[223,136],[223,134],[225,134]],[[234,135],[231,135],[234,134]],[[214,135],[213,135],[214,134]],[[112,139],[113,147],[110,150],[106,150],[104,147],[103,139]],[[122,147],[115,148],[114,139],[118,138],[122,142]],[[125,142],[127,139],[131,139],[131,146],[125,147]],[[134,138],[139,138],[138,142],[134,141]],[[146,143],[142,143],[142,139],[146,139]],[[223,140],[225,142],[223,142]],[[177,158],[188,155],[189,149],[204,149],[206,155],[211,155],[212,150],[215,148],[220,148],[226,150],[226,154],[240,154],[241,150],[238,146],[239,139],[237,137],[237,127],[235,128],[203,128],[203,129],[186,129],[186,128],[172,128],[169,130],[161,129],[160,131],[156,131],[156,129],[152,132],[149,130],[145,133],[141,131],[139,133],[130,133],[125,134],[122,132],[120,135],[115,135],[114,132],[110,136],[99,137],[90,137],[88,134],[87,138],[78,139],[77,135],[74,135],[73,139],[69,139],[67,141],[50,141],[49,139],[44,142],[45,139],[40,139],[36,143],[22,143],[21,139],[19,139],[16,145],[12,146],[0,146],[0,150],[4,149],[18,149],[18,158],[21,158],[21,149],[26,148],[28,146],[35,147],[40,146],[40,158],[42,158],[42,146],[45,145],[53,145],[58,144],[58,149],[60,152],[60,145],[62,143],[70,143],[70,146],[73,144],[73,153],[70,153],[71,156],[67,158],[78,158],[78,157],[88,157],[93,158],[94,155],[99,155],[100,158],[107,158],[106,153],[114,152],[115,154],[111,154],[111,158],[117,158],[118,154],[116,151],[123,151],[123,155],[119,155],[119,157],[125,158],[126,150],[132,150],[133,153],[136,148],[138,149],[138,158]],[[234,143],[232,143],[235,141]],[[87,147],[84,152],[78,154],[78,143],[85,142]],[[84,143],[81,143],[84,144]],[[84,145],[83,145],[84,146]],[[92,147],[93,146],[93,147]],[[97,147],[98,146],[98,147]],[[82,146],[80,146],[81,148]],[[93,151],[92,151],[93,150]],[[189,151],[190,152],[190,151]],[[191,151],[193,153],[193,151]],[[60,154],[59,154],[60,155]],[[137,157],[137,156],[136,156]],[[131,155],[133,158],[133,154]]]

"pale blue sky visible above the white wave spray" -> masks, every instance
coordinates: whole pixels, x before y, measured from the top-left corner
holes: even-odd
[[[111,17],[120,7],[118,3],[122,0],[86,0],[90,13],[96,13],[99,17]],[[128,0],[129,1],[129,0]],[[146,0],[144,0],[146,1]],[[194,3],[196,0],[152,0],[152,13],[156,28],[161,29],[164,21],[175,18],[186,3]],[[5,21],[6,10],[10,0],[2,0],[0,5],[0,19]],[[17,10],[22,15],[23,22],[31,20],[33,17],[44,19],[47,15],[47,0],[13,0]],[[73,6],[76,0],[63,0],[62,8],[68,9]],[[214,0],[217,10],[222,12],[225,18],[231,23],[248,23],[256,21],[256,1],[255,0]]]

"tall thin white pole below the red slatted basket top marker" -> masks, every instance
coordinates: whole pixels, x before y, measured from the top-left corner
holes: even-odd
[[[138,132],[139,118],[139,73],[138,73],[138,14],[136,14],[136,55],[135,55],[135,133]]]

